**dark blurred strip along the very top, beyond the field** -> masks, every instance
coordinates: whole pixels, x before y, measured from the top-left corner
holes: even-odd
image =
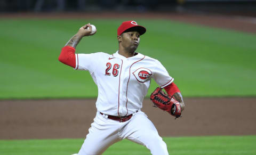
[[[255,0],[1,0],[0,12],[196,12],[256,14]]]

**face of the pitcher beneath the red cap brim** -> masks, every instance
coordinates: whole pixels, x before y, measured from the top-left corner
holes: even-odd
[[[125,49],[135,51],[140,44],[140,34],[137,31],[125,32],[121,35],[119,41]]]

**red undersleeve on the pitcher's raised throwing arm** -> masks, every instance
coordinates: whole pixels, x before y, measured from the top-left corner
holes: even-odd
[[[71,46],[65,46],[62,48],[59,61],[67,64],[70,67],[76,68],[76,55],[75,55],[76,49]]]

